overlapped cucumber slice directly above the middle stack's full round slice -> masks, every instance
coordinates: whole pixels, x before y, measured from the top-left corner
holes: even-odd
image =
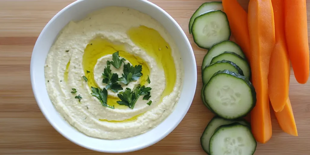
[[[243,75],[242,70],[237,66],[237,64],[227,61],[227,60],[221,60],[218,62],[215,62],[213,64],[207,65],[205,69],[202,71],[202,83],[207,84],[210,80],[210,78],[213,76],[214,73],[220,71],[220,70],[229,70],[235,73],[238,73],[240,75]]]

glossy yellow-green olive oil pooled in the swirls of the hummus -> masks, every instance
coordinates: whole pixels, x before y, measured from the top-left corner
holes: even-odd
[[[130,37],[132,42],[135,43],[139,48],[143,49],[148,55],[155,58],[160,69],[164,70],[165,78],[166,78],[166,87],[162,93],[161,99],[157,101],[157,103],[161,103],[163,97],[169,95],[175,86],[176,81],[176,70],[175,63],[172,57],[172,51],[168,42],[165,41],[164,38],[158,33],[156,30],[145,27],[133,27],[127,31],[127,35]],[[112,55],[114,52],[119,51],[119,55],[126,60],[128,60],[132,65],[142,65],[142,73],[143,76],[140,78],[140,84],[144,85],[147,82],[148,75],[150,75],[150,70],[147,62],[141,59],[139,56],[132,55],[126,52],[126,48],[123,44],[115,44],[109,42],[107,39],[97,37],[89,42],[86,46],[83,54],[83,70],[86,78],[88,78],[88,86],[99,87],[94,79],[94,68],[98,59],[104,55]],[[66,66],[66,71],[64,73],[65,81],[68,80],[68,68],[70,65],[70,61]],[[87,73],[87,70],[91,73]],[[127,107],[124,105],[117,104],[117,101],[120,99],[118,97],[108,95],[108,105],[114,106],[118,109],[126,109]],[[116,121],[116,120],[105,120],[99,119],[102,122],[112,122],[112,123],[127,123],[134,122],[138,119],[138,117],[142,116],[144,113],[136,115],[132,118]]]

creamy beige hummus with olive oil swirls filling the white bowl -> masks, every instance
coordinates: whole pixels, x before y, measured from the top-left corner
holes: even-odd
[[[121,78],[124,64],[130,63],[141,65],[143,75],[128,85],[118,82],[123,88],[118,92],[107,89],[107,104],[113,109],[91,95],[91,87],[103,90],[107,86],[102,73],[115,52],[125,60],[118,69],[110,65],[112,73]],[[60,115],[80,132],[124,139],[156,127],[173,111],[182,89],[180,60],[175,42],[151,16],[130,8],[106,7],[81,21],[71,21],[61,31],[44,67],[47,92]],[[138,85],[152,88],[148,100],[140,96],[134,108],[117,103],[117,94]]]

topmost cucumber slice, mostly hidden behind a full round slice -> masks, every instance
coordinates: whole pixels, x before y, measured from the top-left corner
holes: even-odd
[[[204,14],[209,11],[214,10],[223,10],[222,2],[206,2],[203,3],[192,15],[191,19],[189,20],[188,24],[188,30],[189,33],[192,34],[192,25],[196,17],[198,17],[201,14]]]

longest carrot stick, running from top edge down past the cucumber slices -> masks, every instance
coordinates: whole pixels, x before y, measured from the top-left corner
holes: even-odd
[[[275,30],[271,0],[250,0],[248,8],[252,82],[256,91],[256,106],[251,112],[252,133],[260,143],[272,135],[268,72],[271,52],[275,44]]]

